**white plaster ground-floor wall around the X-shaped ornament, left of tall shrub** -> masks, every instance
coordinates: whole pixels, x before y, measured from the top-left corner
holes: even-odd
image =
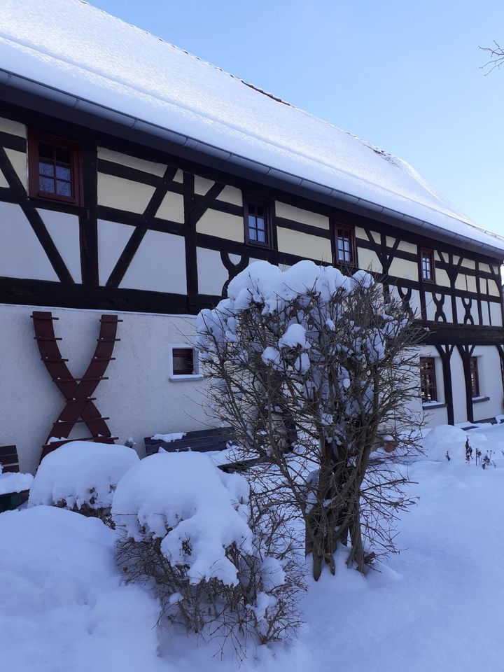
[[[40,307],[1,305],[0,330],[0,437],[15,444],[22,470],[34,470],[52,422],[64,407],[64,398],[50,379],[34,341],[31,312]],[[71,373],[82,376],[90,362],[99,333],[100,316],[107,311],[50,309],[62,356]],[[117,314],[117,313],[115,313]],[[169,381],[169,344],[190,342],[192,316],[142,313],[119,314],[118,338],[94,402],[114,436],[124,442],[132,436],[144,451],[144,437],[155,433],[190,431],[210,424],[204,410],[204,382]],[[87,437],[79,423],[73,437]]]

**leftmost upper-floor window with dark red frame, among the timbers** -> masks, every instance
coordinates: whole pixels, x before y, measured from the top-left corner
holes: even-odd
[[[31,132],[28,157],[31,197],[80,205],[80,152],[76,143]]]

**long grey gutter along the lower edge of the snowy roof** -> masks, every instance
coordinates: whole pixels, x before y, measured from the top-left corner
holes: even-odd
[[[0,68],[0,85],[13,87],[14,89],[18,89],[29,94],[43,97],[45,99],[50,99],[52,102],[61,104],[70,109],[87,113],[92,116],[97,116],[109,122],[127,127],[130,130],[137,130],[151,136],[165,139],[181,147],[209,155],[212,158],[215,158],[216,160],[222,161],[224,163],[232,163],[237,167],[248,169],[252,172],[259,173],[262,176],[270,176],[272,179],[276,179],[283,183],[288,183],[290,186],[299,186],[301,188],[307,189],[312,193],[323,195],[326,198],[332,197],[339,202],[346,202],[353,206],[361,207],[367,211],[393,218],[398,222],[404,222],[416,229],[422,230],[424,235],[435,235],[436,237],[451,239],[460,245],[465,245],[473,249],[477,248],[481,253],[486,253],[496,259],[504,259],[504,241],[501,248],[493,247],[487,243],[478,241],[477,239],[469,238],[459,233],[448,231],[423,219],[412,217],[398,210],[386,208],[378,203],[368,201],[358,196],[353,196],[344,191],[333,189],[332,187],[328,187],[321,183],[313,182],[298,175],[267,166],[266,164],[253,161],[239,154],[225,151],[209,143],[202,142],[175,131],[171,131],[160,125],[127,115],[123,112],[119,112],[99,103],[94,103],[85,98],[66,93],[65,91],[57,89],[56,87],[37,82],[36,80],[29,79],[2,68]],[[455,218],[453,219],[454,221],[458,221]],[[477,230],[478,229],[476,228],[475,232],[477,232]],[[490,232],[486,232],[483,229],[481,229],[481,231],[486,235],[492,235]]]

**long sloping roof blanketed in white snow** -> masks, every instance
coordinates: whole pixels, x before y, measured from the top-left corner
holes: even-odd
[[[407,162],[83,0],[3,0],[0,67],[504,251]]]

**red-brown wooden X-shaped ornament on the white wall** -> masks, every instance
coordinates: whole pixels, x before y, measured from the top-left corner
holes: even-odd
[[[97,346],[89,366],[82,378],[74,378],[66,366],[67,359],[62,358],[59,352],[58,341],[54,331],[54,321],[59,318],[53,317],[49,311],[34,311],[31,314],[34,321],[35,340],[41,359],[48,370],[50,377],[66,399],[66,404],[59,414],[58,419],[52,425],[47,440],[42,448],[41,459],[50,451],[68,442],[71,430],[76,423],[82,422],[90,430],[91,436],[83,440],[92,440],[102,443],[113,443],[117,437],[111,435],[106,421],[110,418],[102,417],[96,405],[92,393],[96,390],[104,376],[112,356],[116,338],[118,322],[117,315],[102,315],[100,320],[99,337]],[[56,440],[55,440],[56,439]]]

